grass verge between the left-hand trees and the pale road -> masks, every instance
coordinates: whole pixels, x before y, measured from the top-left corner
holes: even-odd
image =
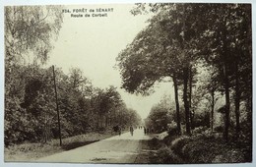
[[[107,139],[116,134],[105,133],[89,133],[71,138],[62,139],[62,146],[59,145],[59,139],[52,139],[46,143],[22,143],[14,144],[4,148],[6,162],[25,162],[33,161],[37,158],[49,156],[65,150],[74,149],[100,139]]]

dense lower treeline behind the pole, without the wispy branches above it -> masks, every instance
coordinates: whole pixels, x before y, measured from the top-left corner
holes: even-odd
[[[17,65],[11,71],[5,87],[5,144],[58,138],[53,68]],[[69,75],[56,69],[55,76],[63,138],[140,124],[116,87],[94,87],[74,68]]]

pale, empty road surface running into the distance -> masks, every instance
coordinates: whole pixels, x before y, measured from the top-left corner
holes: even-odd
[[[81,146],[72,150],[46,156],[37,162],[76,162],[76,163],[134,163],[140,153],[140,144],[145,136],[143,130],[115,136],[109,139]]]

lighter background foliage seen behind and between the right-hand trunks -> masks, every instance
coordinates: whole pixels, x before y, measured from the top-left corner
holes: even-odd
[[[201,96],[202,94],[197,93],[198,96]],[[193,95],[193,98],[197,98],[196,100],[201,100],[197,105],[193,105],[194,107],[194,113],[193,113],[193,122],[191,122],[192,127],[192,133],[201,130],[207,130],[211,128],[212,121],[214,129],[213,131],[220,132],[220,129],[222,130],[223,126],[223,119],[222,119],[222,113],[216,112],[215,113],[215,119],[211,119],[211,109],[210,109],[210,102],[207,101],[207,96],[202,96],[201,98],[198,98]],[[221,98],[219,96],[219,98]],[[222,104],[219,103],[216,105],[215,108],[222,107]],[[233,124],[233,116],[231,117],[231,121]],[[244,120],[244,113],[242,119]],[[185,134],[185,114],[184,114],[184,107],[180,106],[180,122],[181,122],[181,132],[182,134]],[[164,95],[161,97],[160,102],[155,104],[148,115],[148,117],[145,119],[145,125],[148,127],[152,133],[162,133],[164,131],[167,131],[169,135],[177,135],[180,132],[177,131],[177,116],[176,116],[176,110],[175,110],[175,101],[171,98],[171,96]],[[233,126],[232,126],[233,128]]]

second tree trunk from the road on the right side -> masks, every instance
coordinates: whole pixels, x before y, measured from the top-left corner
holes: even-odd
[[[185,67],[183,69],[183,101],[184,101],[184,108],[185,108],[185,120],[186,120],[186,134],[191,135],[190,132],[190,124],[189,124],[189,102],[187,99],[187,83],[188,83],[188,68]]]

